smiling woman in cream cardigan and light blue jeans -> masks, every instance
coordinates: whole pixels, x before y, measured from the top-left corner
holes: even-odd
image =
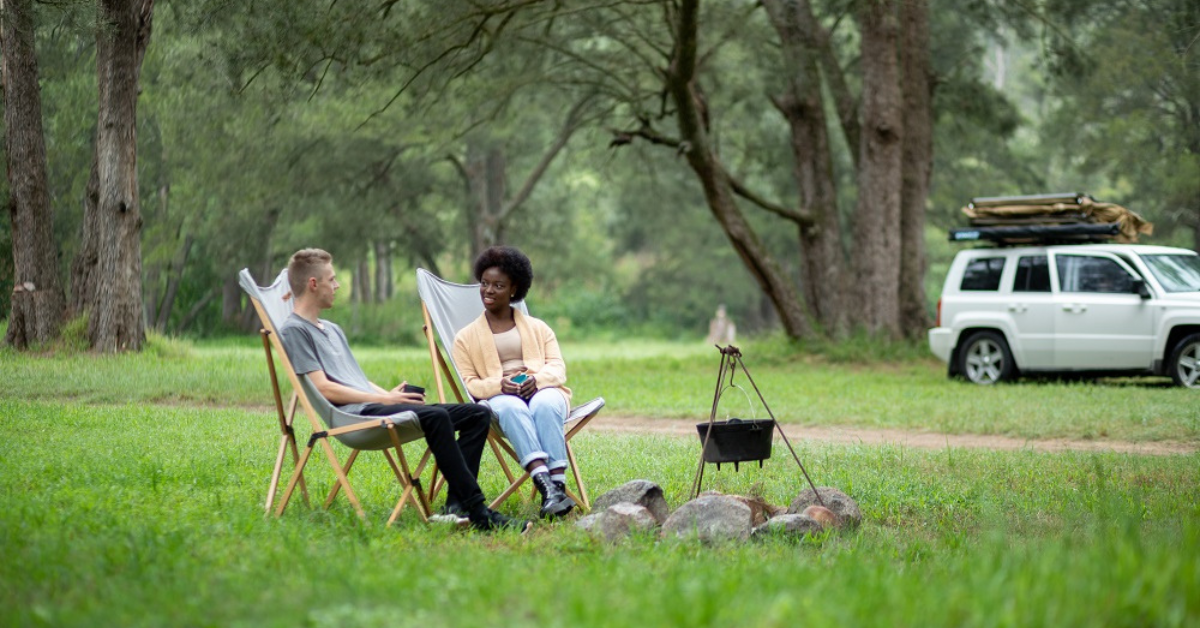
[[[566,439],[570,408],[566,363],[550,325],[512,307],[529,292],[533,264],[511,246],[493,246],[475,259],[484,313],[454,339],[454,361],[470,396],[487,400],[521,466],[541,494],[541,516],[565,515]]]

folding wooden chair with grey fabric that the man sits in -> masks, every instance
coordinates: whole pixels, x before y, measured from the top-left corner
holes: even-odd
[[[254,310],[258,312],[259,322],[263,324],[259,334],[263,337],[263,349],[266,353],[266,366],[271,376],[271,387],[275,393],[275,407],[278,413],[280,431],[282,432],[278,454],[275,459],[275,469],[271,473],[271,484],[266,494],[266,512],[270,513],[271,506],[274,504],[275,494],[278,490],[280,476],[283,469],[283,459],[286,457],[288,449],[292,450],[292,457],[295,466],[287,489],[283,491],[283,496],[275,509],[275,515],[281,516],[283,510],[287,509],[288,502],[290,501],[292,494],[298,484],[300,485],[301,492],[305,495],[305,502],[307,502],[304,469],[313,448],[319,442],[322,450],[325,453],[325,457],[329,460],[330,466],[334,468],[334,474],[337,478],[337,482],[329,491],[329,496],[325,498],[325,508],[329,508],[329,506],[332,504],[338,491],[344,491],[346,497],[354,506],[354,510],[358,515],[360,518],[366,516],[362,512],[362,506],[359,503],[358,496],[354,494],[354,489],[350,486],[349,473],[354,466],[354,461],[358,459],[359,451],[382,450],[384,453],[384,457],[388,460],[388,465],[396,476],[396,480],[400,482],[403,488],[400,501],[396,503],[391,516],[388,519],[388,525],[390,526],[396,518],[400,516],[400,513],[408,503],[412,503],[416,508],[416,512],[420,514],[422,521],[427,520],[430,516],[430,502],[424,489],[421,488],[419,478],[431,460],[431,453],[428,449],[425,450],[415,472],[413,472],[409,468],[408,459],[404,456],[404,449],[402,447],[404,443],[416,441],[425,436],[421,431],[420,423],[416,419],[416,414],[413,412],[401,412],[389,417],[365,417],[342,412],[334,407],[329,400],[326,400],[324,395],[317,390],[307,376],[298,376],[295,373],[292,369],[292,361],[288,359],[287,352],[283,349],[283,342],[280,339],[278,329],[283,324],[283,321],[292,315],[293,309],[290,299],[292,288],[288,286],[287,269],[280,273],[275,282],[266,287],[259,286],[250,275],[250,270],[247,269],[242,269],[241,273],[239,273],[238,281],[241,285],[241,288],[246,291],[246,294],[250,295],[250,300],[254,305]],[[280,365],[283,367],[288,381],[292,383],[293,395],[287,411],[283,408],[283,397],[280,394],[280,385],[275,370],[276,358],[272,357],[272,347],[275,349],[274,354],[277,355]],[[293,429],[293,420],[295,419],[298,403],[304,408],[305,414],[308,417],[308,423],[312,426],[312,436],[308,438],[308,444],[305,447],[302,454],[298,451],[295,432]],[[334,448],[329,443],[330,436],[352,449],[344,466],[338,462],[337,455],[334,453]]]

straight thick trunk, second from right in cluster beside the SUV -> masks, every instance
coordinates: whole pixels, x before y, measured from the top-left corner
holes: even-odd
[[[859,8],[863,130],[854,211],[858,323],[868,333],[900,333],[900,189],[904,128],[896,60],[895,0]]]

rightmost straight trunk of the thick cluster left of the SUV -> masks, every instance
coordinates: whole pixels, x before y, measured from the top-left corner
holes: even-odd
[[[929,2],[900,2],[904,86],[904,173],[900,190],[900,330],[916,337],[930,327],[925,307],[925,201],[934,166],[934,77],[929,59]]]

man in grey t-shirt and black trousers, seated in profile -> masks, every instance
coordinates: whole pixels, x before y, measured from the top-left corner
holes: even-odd
[[[446,479],[448,510],[466,513],[476,530],[511,527],[528,530],[520,521],[487,508],[475,477],[487,442],[492,413],[478,403],[426,405],[425,394],[406,391],[402,382],[391,390],[371,382],[350,353],[342,328],[320,318],[334,306],[337,277],[332,256],[320,249],[298,251],[288,262],[294,311],[280,329],[296,375],[307,375],[330,403],[346,412],[390,415],[412,411],[425,432],[433,459]],[[455,442],[455,431],[460,432]]]

